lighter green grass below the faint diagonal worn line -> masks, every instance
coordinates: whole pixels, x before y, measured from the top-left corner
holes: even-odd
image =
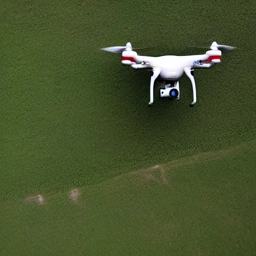
[[[1,207],[3,255],[253,255],[255,141]]]

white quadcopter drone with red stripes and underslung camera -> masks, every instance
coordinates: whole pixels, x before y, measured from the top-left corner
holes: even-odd
[[[196,102],[196,88],[194,80],[194,68],[210,67],[214,63],[221,61],[221,52],[227,52],[235,47],[217,44],[216,41],[210,45],[210,50],[205,54],[199,55],[165,55],[158,57],[141,56],[132,49],[131,43],[127,42],[125,46],[113,46],[101,48],[102,50],[121,53],[121,63],[129,65],[134,69],[146,68],[150,71],[150,101],[148,106],[153,103],[153,86],[158,77],[165,81],[165,87],[160,88],[160,98],[179,99],[179,78],[185,74],[191,81],[193,91],[193,101],[190,106]]]

